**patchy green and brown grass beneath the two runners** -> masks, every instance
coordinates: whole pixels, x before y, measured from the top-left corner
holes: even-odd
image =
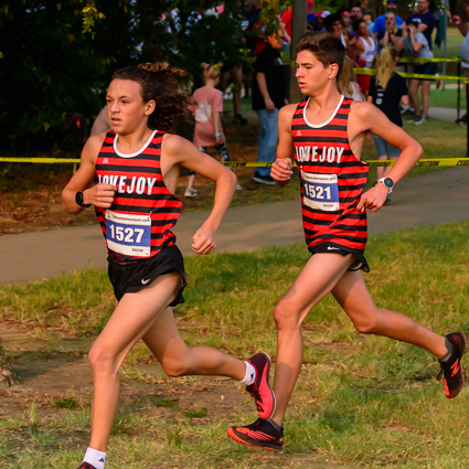
[[[402,310],[441,334],[468,332],[468,230],[469,222],[372,237],[372,270],[365,280],[376,305]],[[177,310],[186,342],[243,359],[265,350],[275,360],[271,309],[307,259],[301,244],[188,258],[186,302]],[[104,270],[83,270],[0,287],[2,323],[29,328],[30,342],[49,340],[50,352],[64,351],[64,333],[75,337],[75,351],[86,351],[115,306],[106,277]],[[446,399],[443,383],[435,380],[439,367],[427,352],[356,333],[331,298],[306,319],[303,340],[305,364],[280,455],[225,437],[228,425],[256,418],[242,386],[198,377],[168,380],[138,344],[122,370],[125,396],[107,467],[469,467],[468,394]],[[18,353],[11,353],[13,363]],[[53,396],[60,380],[47,383]],[[140,387],[126,401],[132,386]],[[90,395],[78,387],[39,404],[34,392],[19,394],[22,411],[0,407],[1,467],[74,469],[89,437]],[[2,402],[8,397],[4,392],[1,396]]]

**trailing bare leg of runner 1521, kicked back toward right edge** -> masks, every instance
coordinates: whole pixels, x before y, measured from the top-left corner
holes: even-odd
[[[356,330],[422,347],[438,359],[447,353],[445,338],[402,312],[376,308],[361,271],[347,271],[332,295],[349,315]]]

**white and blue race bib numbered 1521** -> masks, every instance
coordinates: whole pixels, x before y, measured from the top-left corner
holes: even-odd
[[[311,174],[301,171],[301,180],[305,205],[324,212],[340,209],[337,174]]]

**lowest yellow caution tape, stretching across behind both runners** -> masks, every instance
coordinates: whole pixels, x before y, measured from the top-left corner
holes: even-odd
[[[392,167],[395,160],[364,160],[370,167]],[[6,163],[79,163],[75,158],[0,158]],[[257,161],[223,161],[222,164],[230,168],[264,168],[271,163],[258,163]],[[296,164],[295,164],[296,166]],[[469,158],[443,158],[440,160],[423,159],[417,167],[468,167]]]

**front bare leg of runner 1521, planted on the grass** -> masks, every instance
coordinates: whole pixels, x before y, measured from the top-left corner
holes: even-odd
[[[277,324],[277,362],[274,393],[277,405],[271,418],[281,425],[302,363],[301,322],[326,297],[354,262],[354,256],[315,254],[274,308]]]

